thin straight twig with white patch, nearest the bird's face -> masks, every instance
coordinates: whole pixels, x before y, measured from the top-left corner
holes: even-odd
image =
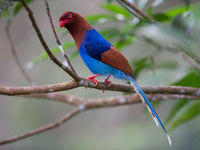
[[[77,75],[77,73],[76,73],[74,67],[72,66],[72,64],[71,64],[71,62],[70,62],[70,60],[69,60],[69,57],[66,55],[66,53],[65,53],[65,51],[64,51],[64,49],[63,49],[63,47],[62,47],[62,44],[61,44],[61,42],[60,42],[60,40],[58,39],[58,36],[57,36],[57,34],[56,34],[56,30],[55,30],[55,27],[54,27],[54,24],[53,24],[53,20],[52,20],[52,17],[51,17],[50,8],[49,8],[49,4],[48,4],[47,0],[44,0],[44,3],[45,3],[45,6],[46,6],[46,12],[47,12],[47,15],[48,15],[50,24],[51,24],[51,28],[52,28],[53,34],[54,34],[55,39],[56,39],[56,43],[57,43],[57,45],[58,45],[58,47],[59,47],[59,49],[60,49],[62,55],[63,55],[64,58],[66,59],[68,65],[69,65],[69,67],[70,67],[70,69]],[[78,76],[78,75],[77,75],[77,76]]]

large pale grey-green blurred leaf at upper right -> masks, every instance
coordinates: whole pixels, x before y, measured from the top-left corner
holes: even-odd
[[[170,49],[175,52],[178,49],[191,57],[196,56],[199,50],[194,40],[169,24],[143,26],[137,30],[137,34],[159,45],[162,50]]]

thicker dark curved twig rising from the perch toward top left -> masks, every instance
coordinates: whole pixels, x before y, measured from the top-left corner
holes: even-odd
[[[62,64],[54,55],[53,53],[50,51],[48,45],[46,44],[41,32],[40,32],[40,29],[35,21],[35,18],[33,16],[33,12],[31,11],[31,9],[28,7],[28,5],[26,4],[26,2],[24,0],[21,0],[21,3],[22,5],[24,6],[25,10],[27,11],[27,14],[29,16],[29,19],[32,23],[32,26],[43,46],[43,48],[46,50],[48,56],[50,57],[50,59],[55,63],[57,64],[60,68],[62,68],[65,72],[67,72],[72,78],[74,78],[74,80],[76,81],[80,81],[80,77],[77,76],[73,71],[71,71],[68,67],[66,67],[64,64]]]

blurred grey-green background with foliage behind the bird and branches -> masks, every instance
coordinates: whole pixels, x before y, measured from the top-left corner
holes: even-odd
[[[49,4],[59,37],[81,76],[87,77],[91,73],[80,59],[72,37],[65,30],[58,29],[60,15],[68,10],[86,16],[88,21],[128,58],[140,85],[200,87],[199,70],[180,56],[180,52],[193,58],[200,56],[198,0],[136,1],[141,10],[153,16],[160,24],[137,20],[115,1],[49,0]],[[34,83],[43,85],[69,80],[69,76],[44,53],[25,11],[20,9],[17,3],[12,6],[5,5],[10,8],[8,14],[4,12],[0,17],[0,84],[29,85],[10,51],[5,34],[8,19],[12,22],[10,32],[20,61]],[[29,6],[49,47],[64,61],[57,52],[43,2],[34,0]],[[5,11],[6,8],[2,10]],[[85,88],[63,93],[85,98],[125,94],[110,91],[103,94],[102,91],[86,91]],[[0,146],[0,150],[200,149],[200,102],[166,100],[153,104],[161,120],[165,121],[170,129],[171,148],[161,129],[155,126],[151,116],[146,113],[144,105],[135,104],[83,112],[59,128]],[[55,121],[72,109],[72,106],[34,98],[0,96],[0,140]]]

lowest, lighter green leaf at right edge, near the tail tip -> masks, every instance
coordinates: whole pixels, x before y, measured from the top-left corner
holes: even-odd
[[[192,101],[183,107],[168,124],[168,130],[172,131],[181,124],[194,119],[200,114],[200,101]]]

